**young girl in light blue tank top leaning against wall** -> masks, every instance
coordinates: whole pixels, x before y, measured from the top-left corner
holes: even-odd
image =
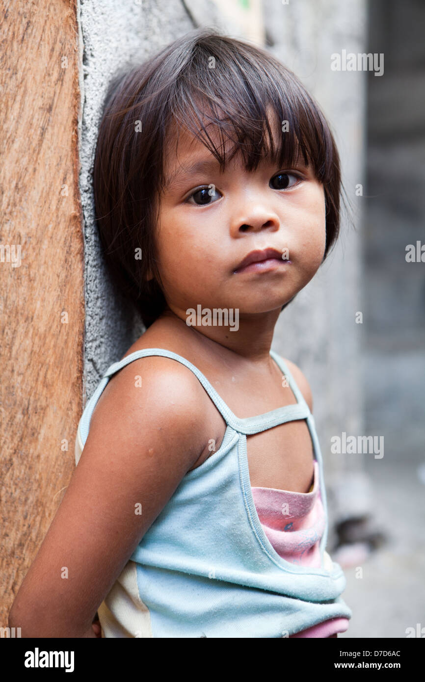
[[[323,462],[278,316],[338,236],[340,165],[276,59],[192,31],[111,85],[94,196],[147,331],[78,426],[76,470],[16,597],[23,636],[336,637]]]

